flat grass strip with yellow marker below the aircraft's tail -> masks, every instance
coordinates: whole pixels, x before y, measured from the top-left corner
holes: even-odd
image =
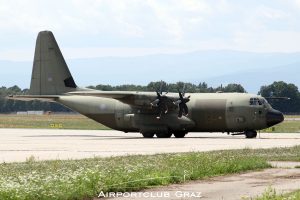
[[[0,115],[0,128],[109,129],[83,115]]]

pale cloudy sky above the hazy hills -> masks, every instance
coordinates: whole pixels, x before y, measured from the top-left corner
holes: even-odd
[[[300,0],[0,0],[1,60],[32,60],[41,30],[67,59],[300,52]]]

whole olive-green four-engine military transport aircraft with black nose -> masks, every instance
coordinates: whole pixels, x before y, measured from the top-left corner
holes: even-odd
[[[188,132],[257,136],[283,121],[267,100],[246,93],[99,91],[78,87],[50,31],[38,34],[29,95],[16,100],[58,102],[105,126],[145,138],[184,137]]]

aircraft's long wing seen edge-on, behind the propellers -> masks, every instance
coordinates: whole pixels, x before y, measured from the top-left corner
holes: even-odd
[[[129,104],[131,106],[151,108],[151,103],[157,99],[157,94],[155,92],[137,92],[137,91],[76,91],[68,92],[69,95],[79,95],[79,96],[94,96],[103,97],[119,100],[123,103]],[[167,96],[162,96],[163,101],[168,107],[172,108],[174,106],[173,102],[178,99],[178,94],[171,93]]]

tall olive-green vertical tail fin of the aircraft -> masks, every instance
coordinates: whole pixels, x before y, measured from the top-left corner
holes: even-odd
[[[54,35],[50,31],[40,32],[36,40],[29,94],[59,95],[76,88]]]

